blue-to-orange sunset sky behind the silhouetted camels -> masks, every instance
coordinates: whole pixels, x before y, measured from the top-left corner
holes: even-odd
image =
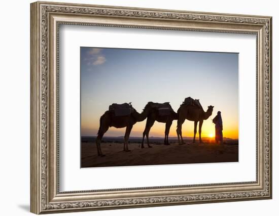
[[[112,103],[129,103],[142,112],[149,102],[170,102],[177,111],[187,97],[203,109],[214,106],[202,125],[202,137],[215,135],[212,119],[221,111],[223,136],[238,139],[238,54],[112,48],[81,48],[81,136],[96,136],[100,116]],[[146,120],[134,124],[131,137],[141,137]],[[173,121],[170,137],[176,137]],[[164,137],[165,124],[155,122],[150,137]],[[186,120],[183,137],[193,137]],[[105,137],[124,136],[110,127]]]

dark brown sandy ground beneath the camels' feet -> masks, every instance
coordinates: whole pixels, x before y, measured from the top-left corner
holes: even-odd
[[[145,144],[146,145],[146,144]],[[147,145],[146,145],[147,146]],[[132,166],[182,163],[237,162],[238,145],[215,143],[152,145],[140,148],[138,143],[128,144],[130,152],[123,151],[121,143],[101,143],[105,157],[97,156],[96,144],[81,145],[81,167]]]

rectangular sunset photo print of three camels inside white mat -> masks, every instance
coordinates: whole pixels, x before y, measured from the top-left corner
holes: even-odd
[[[238,53],[80,49],[81,168],[238,162]]]

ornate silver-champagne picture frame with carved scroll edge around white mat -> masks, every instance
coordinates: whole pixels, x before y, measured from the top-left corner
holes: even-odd
[[[30,11],[31,212],[40,214],[272,198],[271,17],[49,2],[32,3]],[[58,33],[61,24],[256,35],[256,181],[61,192],[58,91]]]

